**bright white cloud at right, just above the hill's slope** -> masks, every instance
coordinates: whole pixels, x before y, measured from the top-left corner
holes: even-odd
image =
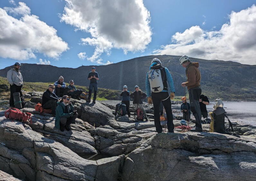
[[[225,23],[219,31],[204,31],[196,26],[196,32],[199,32],[197,35],[188,33],[192,27],[183,33],[177,32],[173,36],[176,44],[161,46],[154,53],[232,60],[255,65],[256,6],[232,12],[229,18],[230,22]]]

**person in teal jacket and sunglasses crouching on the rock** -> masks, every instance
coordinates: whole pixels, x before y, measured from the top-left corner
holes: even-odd
[[[70,102],[69,96],[63,96],[60,102],[57,102],[58,106],[56,108],[56,118],[55,118],[55,128],[60,129],[60,131],[71,130],[71,123],[75,123],[75,119],[78,113],[74,111],[74,106]]]

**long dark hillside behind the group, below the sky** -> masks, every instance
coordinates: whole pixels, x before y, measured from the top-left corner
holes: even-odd
[[[176,94],[184,95],[184,89],[180,84],[186,81],[186,75],[185,68],[178,63],[180,56],[143,56],[116,64],[96,66],[96,71],[100,76],[98,86],[122,90],[123,85],[127,85],[129,90],[133,90],[134,85],[139,85],[145,91],[145,77],[154,57],[158,57],[162,65],[169,69],[174,80]],[[251,94],[256,93],[256,65],[196,58],[191,58],[191,60],[199,62],[203,93],[211,99],[220,97],[224,100],[256,100],[251,97]],[[10,67],[6,67],[0,70],[0,76],[6,77],[9,69]],[[87,76],[91,71],[91,66],[74,69],[52,65],[23,64],[21,70],[25,82],[55,82],[60,75],[63,75],[66,82],[73,79],[77,85],[88,86]]]

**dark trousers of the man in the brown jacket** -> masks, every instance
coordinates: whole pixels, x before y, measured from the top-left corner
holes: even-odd
[[[195,87],[188,90],[190,109],[196,119],[196,122],[195,122],[196,129],[202,129],[201,110],[199,105],[199,99],[200,99],[201,93],[202,93],[202,90],[200,87]]]

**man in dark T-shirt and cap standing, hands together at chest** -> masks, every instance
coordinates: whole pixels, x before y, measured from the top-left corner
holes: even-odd
[[[91,102],[91,96],[92,96],[92,90],[94,90],[93,95],[93,103],[95,103],[96,96],[97,96],[97,90],[98,90],[98,80],[99,80],[99,74],[95,72],[96,68],[92,67],[92,71],[88,74],[88,80],[90,80],[89,85],[89,96],[87,102]]]

